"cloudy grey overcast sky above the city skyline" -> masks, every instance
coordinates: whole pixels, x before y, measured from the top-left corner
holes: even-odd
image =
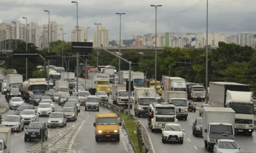
[[[256,0],[208,0],[209,32],[254,33],[256,30]],[[155,33],[155,8],[157,30],[160,32],[202,33],[206,31],[206,0],[78,0],[78,25],[91,27],[89,38],[93,38],[94,23],[101,23],[109,29],[109,38],[119,38],[119,16],[122,15],[122,39],[131,35]],[[9,23],[23,16],[39,25],[50,20],[63,25],[70,40],[71,29],[76,26],[76,5],[69,0],[0,0],[0,22]]]

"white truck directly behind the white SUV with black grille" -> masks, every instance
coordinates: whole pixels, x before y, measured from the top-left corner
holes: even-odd
[[[167,102],[153,102],[148,105],[148,127],[151,132],[161,130],[166,123],[178,123],[176,119],[175,105]]]

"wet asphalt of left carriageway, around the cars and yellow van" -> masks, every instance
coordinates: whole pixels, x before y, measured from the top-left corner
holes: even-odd
[[[6,107],[8,107],[8,103],[6,102],[4,95],[1,95],[0,103],[5,105]],[[55,110],[60,110],[60,109],[61,109],[61,106],[59,106],[58,104],[55,104]],[[84,106],[81,106],[81,112],[78,114],[77,121],[67,122],[66,127],[49,128],[48,129],[49,130],[49,138],[51,136],[53,136],[53,138],[51,138],[50,140],[48,139],[45,143],[43,143],[44,146],[47,145],[46,148],[48,146],[50,146],[51,142],[52,142],[51,140],[54,140],[55,136],[56,136],[56,138],[57,138],[57,136],[61,136],[61,133],[63,131],[65,131],[66,133],[72,133],[72,132],[74,133],[77,130],[78,135],[73,135],[74,136],[73,142],[75,141],[75,143],[73,144],[73,142],[67,142],[67,143],[65,142],[66,144],[64,144],[66,146],[68,145],[68,143],[70,143],[70,146],[72,146],[72,144],[73,144],[72,148],[70,148],[70,150],[72,150],[72,152],[76,152],[76,151],[77,152],[103,152],[104,151],[106,153],[108,153],[108,151],[109,152],[120,152],[120,153],[131,152],[131,151],[129,151],[130,150],[129,148],[131,148],[131,146],[129,146],[130,144],[127,141],[128,140],[127,135],[125,132],[123,132],[123,130],[121,131],[120,142],[96,143],[93,122],[95,120],[96,113],[101,113],[101,112],[108,112],[108,110],[100,108],[99,112],[85,112]],[[8,110],[6,113],[3,114],[3,116],[8,115],[8,114],[14,114],[14,111]],[[47,122],[47,120],[48,120],[47,117],[39,117],[39,121]],[[25,125],[25,127],[27,127],[27,126],[28,125]],[[73,127],[74,127],[74,129],[72,129]],[[77,128],[75,128],[75,127],[77,127]],[[32,148],[40,149],[40,145],[38,144],[38,143],[40,143],[39,140],[32,141],[32,142],[24,141],[25,132],[26,132],[26,129],[22,132],[19,132],[19,133],[13,132],[11,134],[11,152],[12,153],[32,152],[32,150],[31,150]],[[54,145],[56,145],[56,144],[54,144]],[[28,149],[30,151],[28,151]]]

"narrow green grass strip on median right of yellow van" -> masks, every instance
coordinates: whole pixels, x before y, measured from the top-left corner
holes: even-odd
[[[134,131],[137,131],[136,122],[133,119],[127,119],[127,117],[128,117],[127,115],[125,115],[123,113],[120,113],[120,114],[121,114],[121,117],[124,120],[125,126],[127,128],[129,136],[131,138],[131,141],[133,142],[133,145],[135,147],[136,152],[140,152],[137,134],[133,133]],[[142,149],[142,153],[144,153],[143,149]]]

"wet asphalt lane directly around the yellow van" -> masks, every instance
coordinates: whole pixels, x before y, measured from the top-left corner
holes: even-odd
[[[126,153],[127,147],[125,144],[125,140],[122,137],[123,133],[120,130],[120,141],[95,141],[95,127],[93,123],[95,122],[95,115],[97,113],[106,113],[110,112],[100,107],[99,112],[89,111],[89,118],[83,124],[80,129],[77,137],[75,138],[74,144],[72,146],[72,151],[85,151],[85,152],[120,152]]]

